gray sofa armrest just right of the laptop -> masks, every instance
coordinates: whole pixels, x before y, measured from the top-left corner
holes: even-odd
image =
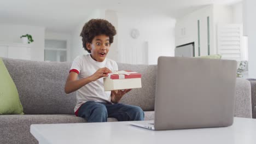
[[[236,79],[235,117],[252,118],[251,83]]]

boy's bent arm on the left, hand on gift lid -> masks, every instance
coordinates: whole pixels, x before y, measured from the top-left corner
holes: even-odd
[[[93,75],[85,77],[83,79],[77,80],[78,74],[71,71],[68,75],[66,85],[65,85],[65,93],[72,93],[77,91],[79,88],[87,85],[89,82],[96,81],[101,77],[108,76],[108,73],[112,73],[108,68],[98,69]]]

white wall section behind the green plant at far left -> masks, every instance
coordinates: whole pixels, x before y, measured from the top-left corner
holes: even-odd
[[[44,61],[44,27],[0,25],[0,41],[3,43],[21,43],[20,36],[24,34],[31,34],[34,40],[31,44],[31,60]]]

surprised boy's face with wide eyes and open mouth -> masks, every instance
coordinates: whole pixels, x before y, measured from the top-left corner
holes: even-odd
[[[86,46],[88,50],[91,50],[91,56],[95,61],[103,62],[110,47],[109,37],[107,35],[96,35],[92,42],[87,43]]]

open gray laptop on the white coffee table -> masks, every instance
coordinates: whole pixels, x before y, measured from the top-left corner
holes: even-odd
[[[152,130],[228,127],[234,118],[236,61],[159,57]]]

